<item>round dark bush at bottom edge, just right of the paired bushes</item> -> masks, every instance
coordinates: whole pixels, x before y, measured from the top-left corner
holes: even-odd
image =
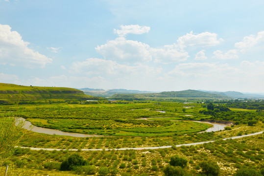
[[[214,161],[203,161],[199,165],[206,176],[218,176],[220,173],[220,168]]]

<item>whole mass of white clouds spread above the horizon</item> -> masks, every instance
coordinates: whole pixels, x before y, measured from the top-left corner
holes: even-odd
[[[14,83],[29,83],[30,85],[47,86],[56,85],[93,88],[124,88],[123,85],[133,89],[175,90],[177,85],[181,88],[202,88],[201,85],[210,82],[225,88],[244,86],[243,82],[252,81],[261,86],[258,80],[264,78],[264,62],[247,61],[240,59],[250,48],[263,44],[264,31],[257,36],[249,35],[236,42],[234,48],[227,50],[217,48],[224,42],[216,33],[201,32],[187,33],[180,36],[175,43],[152,47],[137,40],[127,39],[127,34],[145,34],[150,31],[148,26],[121,25],[114,29],[118,37],[97,45],[95,50],[102,58],[89,58],[72,62],[70,66],[60,65],[58,69],[66,71],[65,74],[49,76],[48,78],[31,77],[21,80],[18,75],[0,73],[0,81],[13,80]],[[51,52],[57,53],[62,47],[47,47]],[[229,63],[236,61],[236,64]],[[52,59],[29,48],[29,43],[22,40],[22,36],[11,31],[9,25],[0,24],[0,64],[22,65],[28,68],[45,67],[52,64]],[[141,88],[138,86],[141,85]],[[143,85],[143,86],[142,86]],[[169,88],[168,88],[169,87]],[[249,86],[245,86],[246,88]],[[214,87],[208,87],[214,89]],[[234,90],[234,89],[233,89]]]

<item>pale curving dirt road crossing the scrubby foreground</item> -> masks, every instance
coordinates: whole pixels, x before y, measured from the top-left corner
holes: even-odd
[[[222,140],[228,140],[228,139],[238,139],[241,137],[247,137],[247,136],[252,136],[252,135],[257,135],[257,134],[262,134],[264,133],[264,131],[261,132],[255,132],[255,133],[251,133],[251,134],[246,134],[246,135],[241,135],[241,136],[234,136],[234,137],[228,137]],[[212,141],[205,141],[205,142],[196,142],[196,143],[190,143],[190,144],[179,144],[176,145],[176,147],[180,147],[180,146],[191,146],[191,145],[199,145],[199,144],[204,144],[204,143],[209,143],[209,142],[215,142],[216,140],[212,140]],[[32,147],[21,147],[21,148],[29,148],[30,150],[47,150],[47,151],[60,151],[60,150],[69,150],[69,151],[78,151],[78,149],[45,149],[45,148],[32,148]],[[161,146],[161,147],[137,147],[137,148],[120,148],[120,149],[79,149],[81,151],[111,151],[111,150],[119,150],[119,151],[123,151],[123,150],[148,150],[148,149],[165,149],[165,148],[171,148],[171,146]]]

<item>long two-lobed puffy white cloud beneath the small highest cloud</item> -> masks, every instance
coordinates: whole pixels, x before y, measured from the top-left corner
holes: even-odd
[[[97,46],[96,51],[106,59],[137,64],[153,59],[154,62],[158,63],[180,62],[189,57],[188,52],[179,51],[175,44],[165,45],[162,48],[152,48],[148,44],[126,40],[123,37]]]

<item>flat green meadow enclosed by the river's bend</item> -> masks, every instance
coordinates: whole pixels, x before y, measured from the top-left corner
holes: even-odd
[[[167,136],[175,133],[205,131],[212,125],[181,121],[149,121],[140,120],[146,117],[177,117],[180,120],[208,118],[198,112],[200,105],[183,112],[179,103],[129,103],[127,104],[91,104],[91,105],[21,105],[21,117],[32,122],[33,125],[57,129],[64,132],[78,132],[87,134],[115,135],[115,136]],[[8,116],[15,106],[3,106],[0,115]],[[161,113],[156,110],[165,110]],[[192,116],[186,116],[193,114]]]

